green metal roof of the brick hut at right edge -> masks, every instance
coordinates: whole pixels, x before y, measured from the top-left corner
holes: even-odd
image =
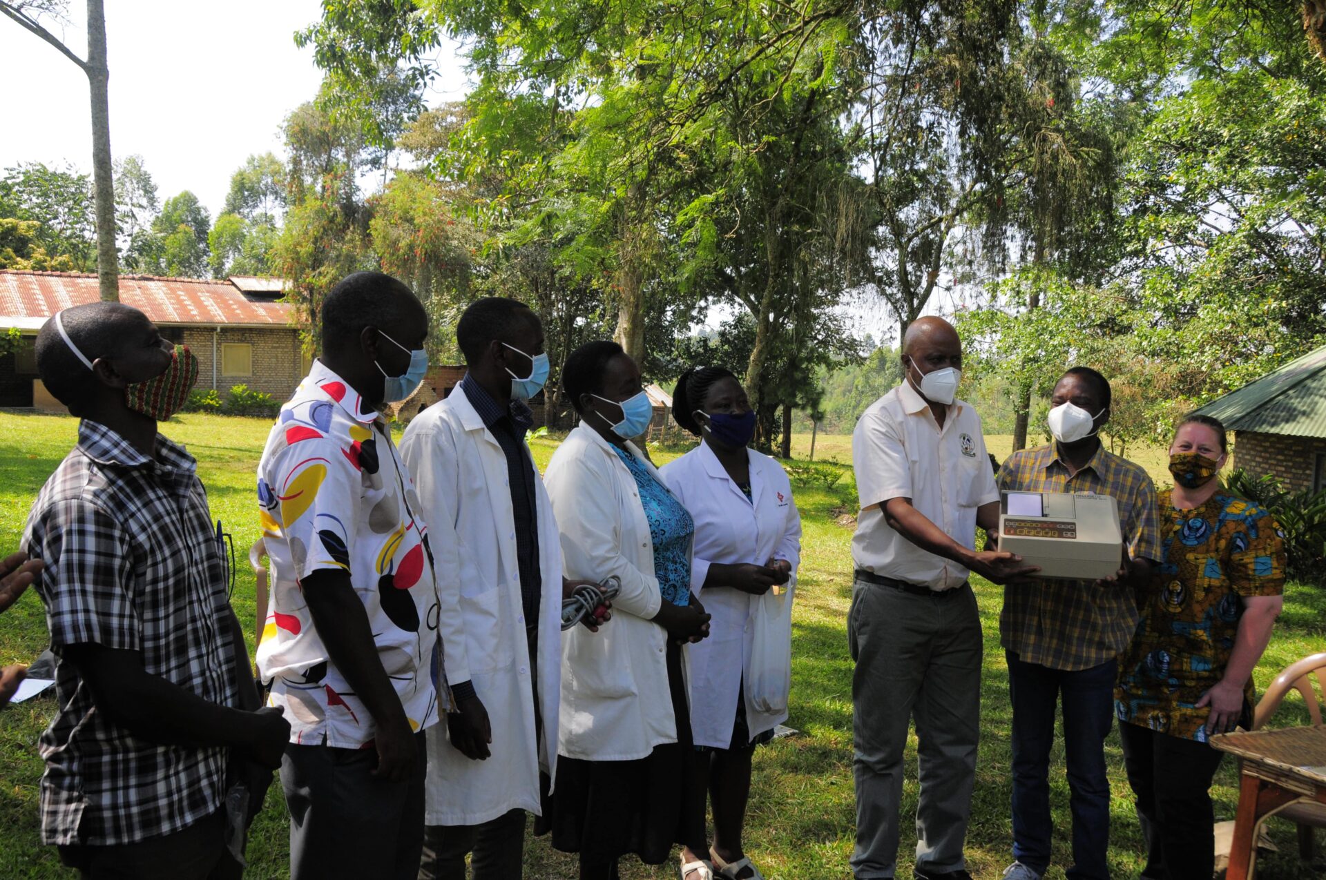
[[[1197,412],[1231,431],[1326,437],[1326,346],[1217,398]]]

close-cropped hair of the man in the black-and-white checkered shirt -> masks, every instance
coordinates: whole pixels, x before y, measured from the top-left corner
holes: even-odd
[[[121,302],[70,306],[60,313],[60,322],[69,341],[93,363],[98,358],[121,357],[126,346],[151,327],[147,315]],[[77,415],[80,406],[101,388],[101,383],[60,335],[54,318],[37,334],[36,354],[37,372],[46,391]]]

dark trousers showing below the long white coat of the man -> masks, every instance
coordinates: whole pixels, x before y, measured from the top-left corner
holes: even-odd
[[[512,810],[477,826],[428,826],[419,880],[465,880],[469,852],[472,880],[518,880],[525,872],[525,811]]]

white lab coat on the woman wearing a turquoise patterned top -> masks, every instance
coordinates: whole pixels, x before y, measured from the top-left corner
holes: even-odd
[[[658,474],[633,444],[627,449]],[[583,761],[633,761],[676,742],[667,679],[667,633],[651,622],[663,602],[639,490],[611,444],[581,424],[553,453],[545,477],[562,526],[568,578],[615,575],[613,619],[562,637],[557,750]],[[683,669],[686,651],[682,652]]]

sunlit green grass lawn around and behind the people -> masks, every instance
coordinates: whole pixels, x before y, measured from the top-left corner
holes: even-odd
[[[68,417],[0,413],[0,547],[13,547],[37,489],[60,459],[73,445],[77,423]],[[186,415],[166,425],[164,432],[188,445],[199,459],[211,496],[212,514],[235,534],[243,554],[257,538],[253,516],[253,469],[268,423],[259,419],[227,419]],[[1002,459],[1008,443],[991,449]],[[552,440],[536,440],[540,467],[556,448]],[[804,456],[809,435],[798,436],[796,451]],[[675,452],[654,455],[662,463]],[[815,459],[837,459],[847,464],[849,437],[821,436]],[[1140,456],[1139,456],[1139,460]],[[1143,461],[1152,473],[1154,463]],[[1163,469],[1162,472],[1163,473]],[[851,590],[851,529],[838,525],[843,510],[854,513],[855,486],[845,467],[833,485],[794,486],[805,522],[801,584],[794,614],[792,717],[788,724],[802,733],[761,747],[756,754],[756,778],[749,808],[747,850],[765,876],[784,880],[846,877],[853,842],[851,785],[851,661],[843,622]],[[983,675],[981,749],[977,765],[968,859],[977,877],[996,877],[1010,861],[1009,823],[1009,722],[1008,680],[998,648],[1000,590],[976,582],[985,628],[985,668]],[[241,622],[253,618],[253,578],[241,566],[233,603]],[[1257,669],[1258,688],[1290,661],[1321,651],[1326,645],[1326,591],[1294,584],[1288,594],[1285,614],[1276,637]],[[28,661],[45,644],[45,623],[37,596],[24,596],[0,616],[0,664]],[[52,713],[52,701],[38,698],[0,713],[0,877],[65,876],[52,848],[38,843],[37,782],[41,759],[36,740]],[[1286,704],[1278,718],[1301,724],[1306,710],[1301,702]],[[1140,836],[1132,812],[1131,793],[1123,775],[1118,737],[1107,743],[1111,787],[1111,872],[1136,876],[1142,868]],[[915,738],[911,742],[911,778],[904,787],[903,815],[916,806],[914,771]],[[1237,803],[1235,769],[1221,769],[1215,787],[1216,814],[1232,819]],[[1069,791],[1063,777],[1062,747],[1057,750],[1052,774],[1052,804],[1055,827],[1055,867],[1052,877],[1063,876],[1070,860]],[[1272,834],[1281,853],[1260,861],[1258,876],[1317,876],[1297,859],[1293,828],[1272,822]],[[249,844],[251,877],[286,876],[286,815],[280,786],[268,795],[264,814],[255,826]],[[908,827],[904,819],[904,828]],[[899,876],[910,876],[912,847],[903,835]],[[526,848],[526,876],[540,879],[574,877],[574,859],[552,851],[542,839],[530,839]],[[623,860],[625,877],[675,877],[676,863],[643,868]]]

